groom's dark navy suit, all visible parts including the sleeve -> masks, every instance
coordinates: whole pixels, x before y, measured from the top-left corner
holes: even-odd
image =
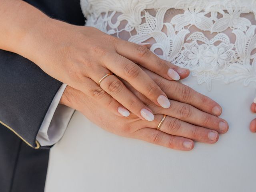
[[[84,25],[79,0],[26,0],[52,18]],[[33,147],[61,82],[17,54],[0,50],[0,121]],[[49,148],[34,149],[0,124],[0,192],[43,192]]]

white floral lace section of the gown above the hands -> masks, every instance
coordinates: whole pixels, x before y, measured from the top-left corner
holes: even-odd
[[[160,58],[191,70],[211,89],[213,80],[256,84],[256,3],[242,0],[82,0],[87,26],[143,44]],[[148,8],[148,7],[153,7]]]

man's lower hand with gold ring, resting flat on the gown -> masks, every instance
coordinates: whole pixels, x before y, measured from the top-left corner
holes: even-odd
[[[64,91],[61,103],[79,110],[109,132],[177,150],[191,150],[194,141],[215,143],[219,138],[218,133],[228,131],[226,121],[212,115],[221,113],[221,108],[216,102],[179,82],[171,82],[148,70],[145,71],[166,91],[168,98],[172,99],[169,100],[169,109],[161,108],[124,82],[140,100],[152,108],[155,115],[152,122],[143,121],[134,114],[128,118],[113,116],[98,102],[69,86]],[[156,130],[163,114],[167,117],[160,130]]]

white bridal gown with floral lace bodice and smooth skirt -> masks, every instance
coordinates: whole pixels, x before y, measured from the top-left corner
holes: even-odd
[[[81,0],[87,26],[152,44],[190,69],[182,83],[222,108],[230,129],[184,152],[123,138],[75,112],[50,152],[46,192],[255,192],[256,2]]]

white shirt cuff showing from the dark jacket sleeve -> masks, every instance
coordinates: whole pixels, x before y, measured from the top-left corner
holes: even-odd
[[[74,113],[74,109],[59,104],[66,86],[66,84],[60,86],[40,126],[36,140],[38,140],[41,146],[56,144],[64,135],[68,122]]]

